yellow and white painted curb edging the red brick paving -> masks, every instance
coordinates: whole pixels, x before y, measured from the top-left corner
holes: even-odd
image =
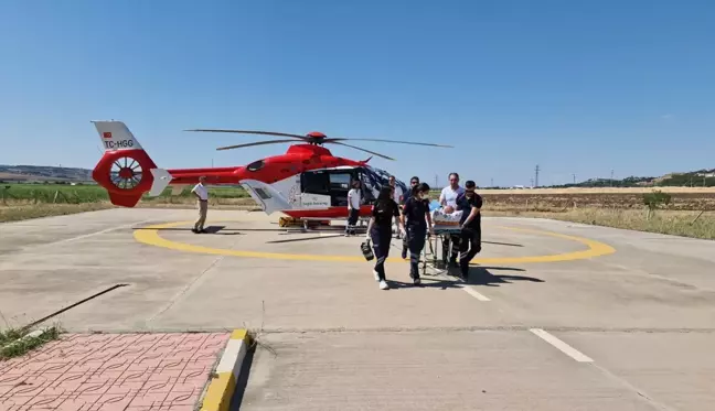
[[[246,329],[234,329],[231,333],[231,339],[201,400],[201,411],[228,410],[249,343],[250,337]]]

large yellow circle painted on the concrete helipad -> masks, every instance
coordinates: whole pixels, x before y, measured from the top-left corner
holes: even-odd
[[[213,223],[226,223],[226,221],[213,221]],[[294,253],[284,253],[284,252],[263,252],[263,251],[244,251],[244,250],[230,250],[225,248],[211,248],[204,246],[195,246],[185,242],[178,242],[168,240],[159,235],[160,229],[172,228],[184,225],[192,225],[193,221],[177,221],[177,223],[167,223],[152,225],[143,227],[141,229],[135,230],[135,238],[139,242],[148,244],[151,246],[169,248],[172,250],[188,251],[188,252],[198,252],[205,255],[218,255],[218,256],[233,256],[233,257],[249,257],[249,258],[268,258],[277,260],[305,260],[305,261],[365,261],[365,258],[362,255],[356,256],[326,256],[326,255],[294,255]],[[556,261],[573,261],[573,260],[583,260],[591,257],[606,256],[616,252],[611,246],[606,244],[590,240],[581,237],[567,236],[558,232],[533,230],[527,228],[513,228],[513,227],[499,227],[502,229],[522,231],[522,232],[532,232],[549,237],[563,238],[565,240],[572,240],[580,242],[588,247],[585,250],[564,252],[558,255],[547,255],[547,256],[524,256],[524,257],[495,257],[495,258],[474,258],[472,263],[489,263],[489,264],[513,264],[513,263],[524,263],[524,262],[556,262]],[[409,262],[409,260],[403,260],[402,258],[388,258],[389,262]]]

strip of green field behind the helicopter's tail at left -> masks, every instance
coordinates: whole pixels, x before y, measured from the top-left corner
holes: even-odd
[[[213,198],[246,198],[248,193],[239,186],[211,187]],[[145,195],[143,202],[163,201],[171,196],[171,188],[167,188],[159,197]],[[190,198],[189,187],[177,196]],[[84,204],[109,201],[107,191],[93,184],[3,184],[0,186],[0,201],[3,203],[53,203],[53,204]]]

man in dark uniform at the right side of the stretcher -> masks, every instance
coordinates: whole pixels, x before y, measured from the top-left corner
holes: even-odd
[[[469,261],[481,251],[481,207],[482,197],[474,193],[473,181],[465,183],[465,194],[457,199],[457,210],[462,212],[459,227],[459,268],[465,280],[469,278]]]

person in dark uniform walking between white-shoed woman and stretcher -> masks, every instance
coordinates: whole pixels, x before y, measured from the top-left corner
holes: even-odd
[[[419,285],[419,255],[425,248],[427,230],[431,231],[429,205],[425,202],[429,194],[429,185],[421,183],[413,186],[412,195],[403,207],[402,223],[407,230],[409,246],[409,277],[415,285]]]

